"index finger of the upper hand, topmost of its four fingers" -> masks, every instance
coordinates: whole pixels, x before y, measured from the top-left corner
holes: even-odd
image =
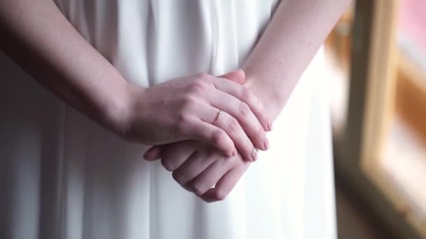
[[[240,99],[240,101],[247,103],[247,106],[249,106],[257,119],[259,119],[265,131],[270,131],[272,129],[272,121],[266,113],[266,109],[249,88],[231,80],[221,80],[221,78],[214,77],[210,78],[210,80],[212,80],[214,87],[221,92],[231,94]]]

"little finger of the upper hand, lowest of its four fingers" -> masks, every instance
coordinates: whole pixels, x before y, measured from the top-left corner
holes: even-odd
[[[214,120],[214,119],[213,119]],[[188,132],[191,132],[191,136],[195,140],[201,140],[216,147],[219,151],[223,152],[226,156],[231,157],[237,154],[233,140],[226,134],[223,129],[220,129],[213,124],[209,124],[201,119],[189,119]]]

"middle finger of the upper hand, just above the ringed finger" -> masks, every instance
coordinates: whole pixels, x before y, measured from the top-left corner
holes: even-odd
[[[269,143],[266,139],[266,132],[246,103],[219,90],[209,92],[207,99],[211,102],[212,106],[224,110],[237,119],[255,147],[261,150],[268,150]]]

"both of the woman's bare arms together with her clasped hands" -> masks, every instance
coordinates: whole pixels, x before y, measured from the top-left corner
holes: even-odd
[[[0,33],[11,37],[1,38],[0,48],[41,85],[118,136],[162,145],[146,158],[161,156],[184,188],[219,201],[256,159],[254,148],[268,148],[266,131],[349,2],[282,1],[244,72],[191,75],[147,89],[126,81],[51,0],[2,0]],[[154,97],[172,89],[178,93],[170,99]],[[233,103],[224,104],[223,97]],[[219,110],[224,114],[214,122]]]

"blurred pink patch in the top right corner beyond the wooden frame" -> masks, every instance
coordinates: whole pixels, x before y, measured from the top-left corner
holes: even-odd
[[[399,34],[426,52],[426,0],[401,0]]]

